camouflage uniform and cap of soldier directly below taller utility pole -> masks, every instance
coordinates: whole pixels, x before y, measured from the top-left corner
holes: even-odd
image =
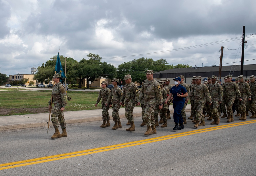
[[[243,78],[242,75],[238,76],[238,79],[240,80],[241,78]],[[242,101],[238,102],[238,109],[240,113],[246,113],[246,102],[248,97],[251,97],[251,90],[250,90],[250,86],[248,83],[246,83],[245,81],[243,81],[242,83],[238,83],[237,84],[239,87],[239,91],[241,93],[241,98]]]

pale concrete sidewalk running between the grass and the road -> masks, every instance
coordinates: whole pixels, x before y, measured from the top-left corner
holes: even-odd
[[[171,114],[173,113],[173,106],[170,107]],[[141,107],[134,107],[133,116],[141,117]],[[186,112],[190,112],[191,105],[188,104],[186,107]],[[64,112],[65,120],[67,124],[75,123],[84,123],[90,121],[101,121],[102,110],[85,110],[85,111],[68,111]],[[110,119],[113,119],[112,108],[109,109]],[[120,118],[125,118],[125,109],[120,108],[119,110]],[[171,116],[172,117],[172,116]],[[7,130],[17,130],[25,128],[38,128],[38,127],[48,127],[49,113],[40,113],[40,114],[25,114],[25,115],[12,115],[12,116],[0,116],[0,131]],[[126,118],[122,120],[123,123],[126,123]],[[100,125],[100,123],[99,123]],[[50,126],[52,123],[50,121]]]

